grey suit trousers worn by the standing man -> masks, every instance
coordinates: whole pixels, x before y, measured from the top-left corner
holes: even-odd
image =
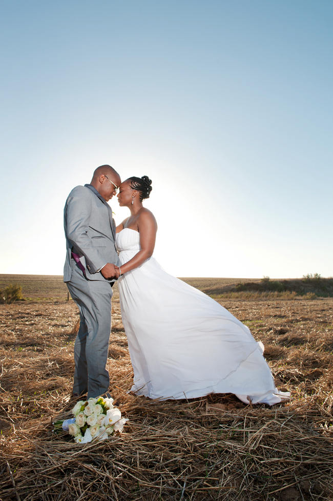
[[[73,393],[88,391],[88,398],[108,391],[106,369],[111,332],[112,288],[107,280],[87,280],[75,267],[67,282],[80,312],[80,327],[74,344]]]

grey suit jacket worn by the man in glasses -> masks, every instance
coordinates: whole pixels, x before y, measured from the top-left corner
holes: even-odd
[[[81,256],[89,280],[105,280],[97,270],[106,263],[119,264],[116,225],[110,206],[93,186],[76,186],[70,192],[64,209],[64,228],[67,250],[64,282],[70,281],[72,269],[77,266],[71,257],[72,250]]]

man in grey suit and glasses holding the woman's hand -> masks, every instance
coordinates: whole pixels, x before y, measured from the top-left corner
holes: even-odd
[[[116,227],[107,202],[120,185],[110,165],[97,167],[91,183],[76,186],[64,209],[67,255],[64,282],[78,306],[80,327],[74,344],[73,395],[107,392],[106,369],[111,331],[111,297],[119,277]]]

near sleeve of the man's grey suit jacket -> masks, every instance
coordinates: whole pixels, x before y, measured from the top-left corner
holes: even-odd
[[[67,238],[76,251],[84,255],[89,265],[89,272],[96,273],[105,266],[98,247],[93,247],[89,235],[89,216],[92,201],[87,188],[77,186],[67,198]]]

